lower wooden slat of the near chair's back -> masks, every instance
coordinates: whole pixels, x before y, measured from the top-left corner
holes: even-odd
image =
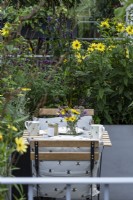
[[[99,153],[94,153],[94,160],[99,159]],[[35,153],[31,152],[31,160],[35,160]],[[39,160],[79,160],[86,161],[90,160],[90,152],[40,152]]]

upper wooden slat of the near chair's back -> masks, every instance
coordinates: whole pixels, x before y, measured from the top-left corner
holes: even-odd
[[[90,147],[90,140],[31,140],[30,146],[34,147],[35,141],[38,141],[39,147]],[[99,146],[98,141],[93,141],[95,143],[95,147]]]

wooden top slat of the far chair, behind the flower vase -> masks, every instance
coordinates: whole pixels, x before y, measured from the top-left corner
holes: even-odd
[[[57,116],[58,115],[58,108],[40,108],[39,109],[39,116]],[[94,109],[84,109],[86,112],[85,115],[93,116],[94,115]]]

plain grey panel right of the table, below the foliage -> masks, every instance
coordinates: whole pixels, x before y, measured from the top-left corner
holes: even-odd
[[[103,177],[133,177],[133,125],[108,125],[112,147],[103,152]],[[101,195],[100,200],[103,200]],[[133,185],[110,185],[109,200],[133,200]]]

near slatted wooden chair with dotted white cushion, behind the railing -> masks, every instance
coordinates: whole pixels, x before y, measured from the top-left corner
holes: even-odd
[[[30,159],[36,176],[90,176],[99,161],[99,141],[30,139]],[[63,165],[64,164],[64,165]],[[44,167],[43,172],[41,167]],[[63,168],[65,166],[65,169]],[[50,168],[49,168],[50,167]],[[83,169],[82,169],[83,168]],[[82,169],[82,170],[81,170]],[[36,187],[36,195],[64,198],[65,185]],[[72,185],[72,199],[87,199],[93,195],[91,186]],[[40,192],[39,192],[40,191]]]

